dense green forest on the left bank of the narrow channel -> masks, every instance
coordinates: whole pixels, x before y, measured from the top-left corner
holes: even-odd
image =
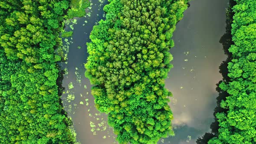
[[[0,143],[72,144],[56,80],[66,0],[0,1]]]

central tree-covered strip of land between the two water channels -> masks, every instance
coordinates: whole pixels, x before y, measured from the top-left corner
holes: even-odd
[[[176,23],[187,0],[108,0],[94,26],[85,76],[99,111],[120,144],[156,144],[173,135],[164,79],[171,69]]]

